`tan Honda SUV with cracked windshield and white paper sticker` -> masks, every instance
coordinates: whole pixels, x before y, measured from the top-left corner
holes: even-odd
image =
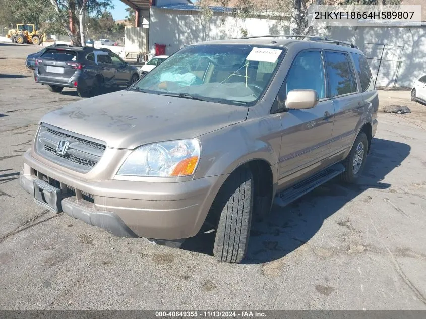
[[[43,116],[20,182],[37,204],[116,236],[179,246],[208,222],[216,258],[237,263],[253,216],[357,179],[378,104],[351,43],[197,43],[124,91]]]

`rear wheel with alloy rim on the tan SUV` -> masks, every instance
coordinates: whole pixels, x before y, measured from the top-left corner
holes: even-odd
[[[369,142],[364,132],[360,132],[353,143],[348,157],[342,162],[345,171],[340,175],[341,181],[354,183],[366,166]]]

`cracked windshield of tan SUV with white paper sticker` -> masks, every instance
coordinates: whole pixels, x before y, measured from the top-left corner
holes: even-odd
[[[160,63],[136,87],[154,94],[252,105],[267,89],[284,54],[278,46],[191,45]]]

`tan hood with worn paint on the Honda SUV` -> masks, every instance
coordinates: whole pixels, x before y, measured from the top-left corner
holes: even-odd
[[[107,147],[195,138],[247,118],[248,107],[135,91],[118,91],[69,104],[41,122],[106,142]]]

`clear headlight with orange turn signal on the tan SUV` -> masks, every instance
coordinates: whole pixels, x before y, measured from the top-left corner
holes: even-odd
[[[196,139],[177,140],[141,146],[121,165],[117,175],[188,176],[197,168],[200,142]]]

